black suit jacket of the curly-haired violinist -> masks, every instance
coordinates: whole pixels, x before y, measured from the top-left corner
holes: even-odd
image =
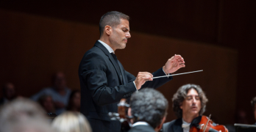
[[[193,125],[197,126],[199,122],[201,121],[202,116],[196,117],[191,122],[191,126]],[[171,122],[166,122],[163,124],[162,132],[183,132],[182,128],[182,118],[179,118],[177,120],[172,120]]]

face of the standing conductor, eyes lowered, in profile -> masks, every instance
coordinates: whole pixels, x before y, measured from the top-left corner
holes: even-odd
[[[120,19],[120,24],[112,27],[110,47],[113,48],[114,51],[116,49],[125,48],[129,37],[131,37],[131,34],[129,34],[129,21]]]

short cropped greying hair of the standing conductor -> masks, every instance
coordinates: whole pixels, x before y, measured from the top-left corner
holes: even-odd
[[[122,12],[117,12],[117,11],[107,12],[106,14],[102,15],[102,18],[99,21],[100,37],[104,32],[105,26],[108,25],[108,26],[115,27],[120,23],[120,19],[125,19],[129,21],[129,16],[125,15]]]

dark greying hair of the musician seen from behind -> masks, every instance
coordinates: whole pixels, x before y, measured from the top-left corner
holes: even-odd
[[[147,122],[157,128],[167,114],[168,100],[155,89],[141,89],[132,94],[130,100],[134,122]]]

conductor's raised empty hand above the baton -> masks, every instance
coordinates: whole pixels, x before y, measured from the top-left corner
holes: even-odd
[[[185,67],[184,59],[182,58],[182,56],[175,54],[170,59],[168,59],[166,65],[163,66],[163,70],[166,73],[174,73],[181,67]]]

